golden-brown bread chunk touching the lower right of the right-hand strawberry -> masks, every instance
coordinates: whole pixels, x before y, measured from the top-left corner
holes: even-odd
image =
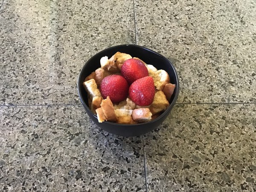
[[[167,101],[163,91],[160,90],[155,93],[154,100],[150,105],[149,109],[151,113],[154,115],[156,113],[159,113],[160,111],[166,110],[168,106],[169,106],[169,102]]]

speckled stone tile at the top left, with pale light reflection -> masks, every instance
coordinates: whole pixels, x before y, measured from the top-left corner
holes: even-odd
[[[0,105],[77,104],[88,58],[135,43],[133,3],[123,0],[6,0],[0,29]]]

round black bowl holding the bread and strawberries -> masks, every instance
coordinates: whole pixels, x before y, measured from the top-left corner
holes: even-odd
[[[164,111],[159,117],[156,119],[135,124],[135,125],[124,125],[124,124],[118,124],[113,122],[102,122],[99,123],[97,116],[94,115],[90,108],[88,107],[88,100],[87,100],[87,93],[84,90],[83,87],[83,81],[84,79],[90,75],[93,71],[95,71],[97,68],[100,67],[100,58],[104,56],[108,56],[110,58],[112,55],[114,55],[116,52],[124,52],[130,54],[132,57],[137,57],[145,61],[146,64],[154,65],[158,70],[162,69],[165,70],[169,76],[172,84],[175,84],[175,91],[172,95],[172,98],[170,99],[170,106]],[[171,112],[173,106],[175,105],[175,102],[177,100],[178,94],[179,94],[179,79],[177,72],[172,65],[172,63],[165,58],[163,55],[160,55],[157,52],[154,52],[150,49],[147,49],[145,47],[141,47],[138,45],[118,45],[114,47],[110,47],[108,49],[104,49],[103,51],[97,53],[93,57],[91,57],[82,68],[79,79],[78,79],[78,93],[79,97],[81,99],[81,102],[87,112],[87,114],[90,116],[90,118],[93,120],[93,122],[96,123],[100,128],[102,128],[105,131],[108,131],[109,133],[121,135],[125,137],[133,137],[133,136],[139,136],[142,134],[146,134],[155,128],[157,128],[169,115]]]

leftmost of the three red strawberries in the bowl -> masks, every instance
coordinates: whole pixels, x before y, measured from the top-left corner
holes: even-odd
[[[118,103],[128,96],[128,82],[119,75],[106,76],[99,87],[100,93],[104,99],[109,96],[111,102]]]

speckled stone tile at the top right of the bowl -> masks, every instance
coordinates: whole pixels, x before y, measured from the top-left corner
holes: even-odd
[[[256,102],[255,0],[135,0],[135,9],[138,44],[178,71],[178,102]]]

